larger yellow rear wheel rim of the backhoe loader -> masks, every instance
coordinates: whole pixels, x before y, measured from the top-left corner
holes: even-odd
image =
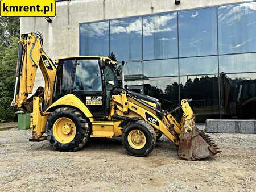
[[[53,136],[60,143],[70,143],[76,136],[75,123],[69,118],[57,119],[53,124]]]

